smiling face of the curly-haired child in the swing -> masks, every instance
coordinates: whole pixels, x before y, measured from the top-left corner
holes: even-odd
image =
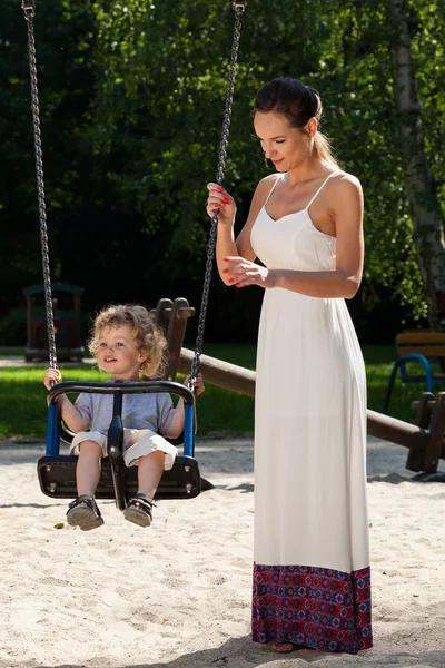
[[[103,327],[98,340],[98,364],[113,379],[138,381],[145,355],[139,351],[129,325]]]

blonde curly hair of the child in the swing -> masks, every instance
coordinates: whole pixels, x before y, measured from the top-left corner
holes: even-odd
[[[122,325],[131,327],[137,347],[147,355],[147,360],[140,364],[140,373],[148,377],[160,376],[167,363],[167,341],[147,308],[137,304],[111,305],[97,314],[87,341],[91,355],[97,357],[99,337],[103,327]]]

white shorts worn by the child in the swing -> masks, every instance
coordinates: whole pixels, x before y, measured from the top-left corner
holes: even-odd
[[[79,445],[83,441],[95,441],[102,449],[103,456],[107,456],[107,436],[100,432],[78,432],[72,439],[70,454],[79,454]],[[178,453],[175,445],[150,429],[123,430],[123,461],[127,466],[137,466],[141,456],[158,450],[166,455],[164,470],[169,471]]]

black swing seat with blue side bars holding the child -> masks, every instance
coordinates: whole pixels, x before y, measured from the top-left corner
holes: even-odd
[[[69,392],[113,395],[113,414],[108,430],[108,456],[102,460],[97,499],[115,499],[120,510],[138,491],[137,466],[126,466],[122,459],[123,426],[122,396],[126,393],[168,392],[185,401],[185,431],[179,439],[167,439],[175,445],[184,442],[184,454],[178,455],[172,469],[164,471],[155,499],[194,499],[201,491],[201,479],[195,454],[195,395],[179,383],[147,381],[137,383],[95,383],[67,381],[51,387],[48,394],[49,418],[47,454],[37,464],[40,489],[47,497],[73,499],[77,497],[77,456],[59,453],[60,440],[72,441],[73,434],[63,425],[56,397]],[[184,440],[182,440],[184,438]]]

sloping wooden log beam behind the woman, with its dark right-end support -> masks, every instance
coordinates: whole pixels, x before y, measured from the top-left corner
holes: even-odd
[[[181,350],[178,371],[186,373],[191,355],[191,351]],[[201,356],[200,369],[206,383],[255,396],[255,371],[208,355]],[[416,477],[418,480],[433,480],[439,459],[445,460],[445,392],[438,393],[436,399],[426,392],[419,402],[414,403],[414,407],[417,409],[416,424],[368,410],[367,433],[407,448],[406,468],[422,472]]]

